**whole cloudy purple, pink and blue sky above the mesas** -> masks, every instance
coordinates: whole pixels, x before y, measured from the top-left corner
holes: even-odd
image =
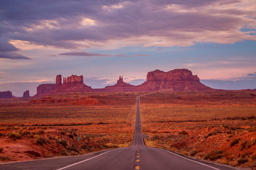
[[[56,75],[103,88],[189,69],[212,88],[256,88],[255,0],[0,0],[0,91]]]

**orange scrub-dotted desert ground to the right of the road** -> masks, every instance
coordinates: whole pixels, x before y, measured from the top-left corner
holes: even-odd
[[[254,168],[255,92],[154,92],[141,97],[148,146]],[[187,133],[185,133],[187,132]],[[186,135],[188,134],[188,135]],[[221,151],[221,152],[220,152]],[[241,155],[249,153],[245,158]]]

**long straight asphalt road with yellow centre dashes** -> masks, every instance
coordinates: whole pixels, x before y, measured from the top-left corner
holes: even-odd
[[[106,150],[96,154],[71,156],[69,158],[4,164],[0,165],[0,169],[232,169],[213,163],[200,162],[167,150],[147,147],[144,145],[141,131],[138,97],[134,137],[130,147]]]

